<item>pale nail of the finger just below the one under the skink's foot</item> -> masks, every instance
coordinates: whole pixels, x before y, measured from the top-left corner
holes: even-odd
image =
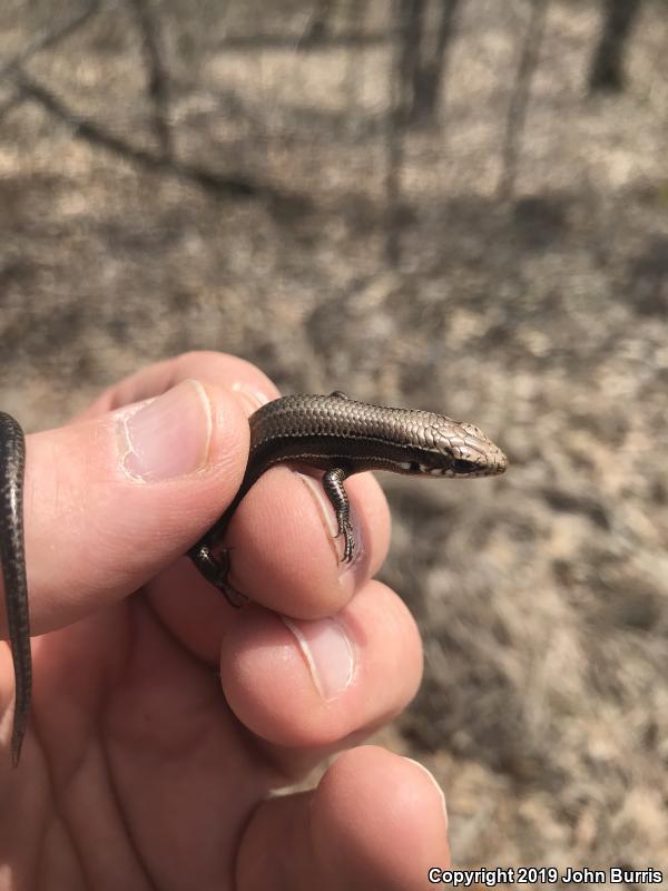
[[[350,686],[355,672],[355,648],[336,619],[295,621],[282,616],[294,634],[323,699],[333,699]]]

